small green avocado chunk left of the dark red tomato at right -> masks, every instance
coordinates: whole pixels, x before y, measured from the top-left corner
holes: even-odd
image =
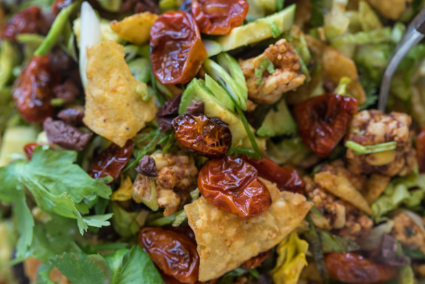
[[[281,99],[276,106],[277,110],[271,108],[267,113],[257,134],[260,137],[275,137],[283,134],[293,134],[297,130],[297,125],[289,112],[287,102]]]

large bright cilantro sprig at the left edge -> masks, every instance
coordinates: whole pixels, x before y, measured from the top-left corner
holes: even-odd
[[[37,206],[47,213],[77,220],[80,233],[88,226],[107,226],[111,215],[83,217],[79,209],[88,211],[97,198],[109,199],[112,190],[105,180],[95,180],[75,164],[77,152],[53,151],[36,147],[31,161],[16,161],[0,167],[0,200],[14,204],[20,235],[17,257],[23,257],[32,244],[34,217],[29,210],[25,189]]]

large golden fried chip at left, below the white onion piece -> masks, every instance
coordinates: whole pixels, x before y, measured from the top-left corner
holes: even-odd
[[[123,147],[154,119],[154,98],[143,102],[141,92],[147,92],[147,86],[133,78],[122,45],[104,41],[88,49],[87,57],[84,124]]]

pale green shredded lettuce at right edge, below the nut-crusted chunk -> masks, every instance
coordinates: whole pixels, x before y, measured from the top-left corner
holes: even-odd
[[[425,196],[425,175],[418,174],[417,169],[409,176],[396,178],[389,182],[387,189],[372,208],[372,217],[375,222],[383,220],[383,216],[398,209],[399,206],[414,208],[420,205]]]

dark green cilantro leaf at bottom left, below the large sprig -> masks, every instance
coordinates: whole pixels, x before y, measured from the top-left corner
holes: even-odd
[[[64,252],[62,258],[56,255],[54,259],[50,259],[50,263],[55,265],[71,283],[104,283],[104,273],[101,272],[95,261],[91,261],[86,255]]]

